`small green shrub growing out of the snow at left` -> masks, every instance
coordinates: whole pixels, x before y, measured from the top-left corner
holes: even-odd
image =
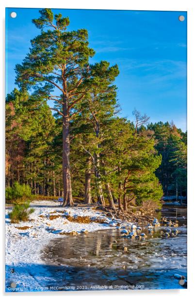
[[[23,204],[14,204],[13,210],[10,212],[9,217],[11,219],[11,223],[18,223],[20,221],[28,221],[30,214],[33,213],[34,209],[29,208],[30,202],[26,202]]]

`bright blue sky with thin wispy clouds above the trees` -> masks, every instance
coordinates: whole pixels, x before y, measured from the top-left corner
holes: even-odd
[[[10,13],[17,17],[12,19]],[[39,34],[32,19],[39,9],[8,8],[6,22],[7,92],[15,87],[15,65],[28,53],[30,40]],[[117,63],[115,84],[121,116],[133,120],[136,108],[150,121],[172,120],[186,130],[187,13],[158,11],[53,9],[68,16],[68,30],[86,28],[96,51],[91,63]],[[183,15],[185,21],[180,22]]]

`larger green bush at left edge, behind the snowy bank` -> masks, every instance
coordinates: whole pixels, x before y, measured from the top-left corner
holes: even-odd
[[[20,185],[18,182],[15,182],[13,187],[6,187],[5,189],[5,198],[8,201],[31,198],[31,196],[31,188],[25,184]]]

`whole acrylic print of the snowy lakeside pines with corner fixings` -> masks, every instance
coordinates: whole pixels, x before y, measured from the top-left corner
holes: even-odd
[[[187,12],[6,8],[6,292],[187,288]]]

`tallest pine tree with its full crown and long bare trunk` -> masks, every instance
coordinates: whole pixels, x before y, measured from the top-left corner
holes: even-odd
[[[33,23],[41,34],[31,41],[30,53],[22,64],[16,65],[16,82],[19,86],[34,87],[36,94],[59,103],[59,109],[52,109],[63,118],[63,205],[71,206],[69,125],[76,104],[86,95],[88,59],[94,50],[88,47],[85,29],[68,32],[68,18],[54,16],[51,9],[42,9],[40,14]]]

